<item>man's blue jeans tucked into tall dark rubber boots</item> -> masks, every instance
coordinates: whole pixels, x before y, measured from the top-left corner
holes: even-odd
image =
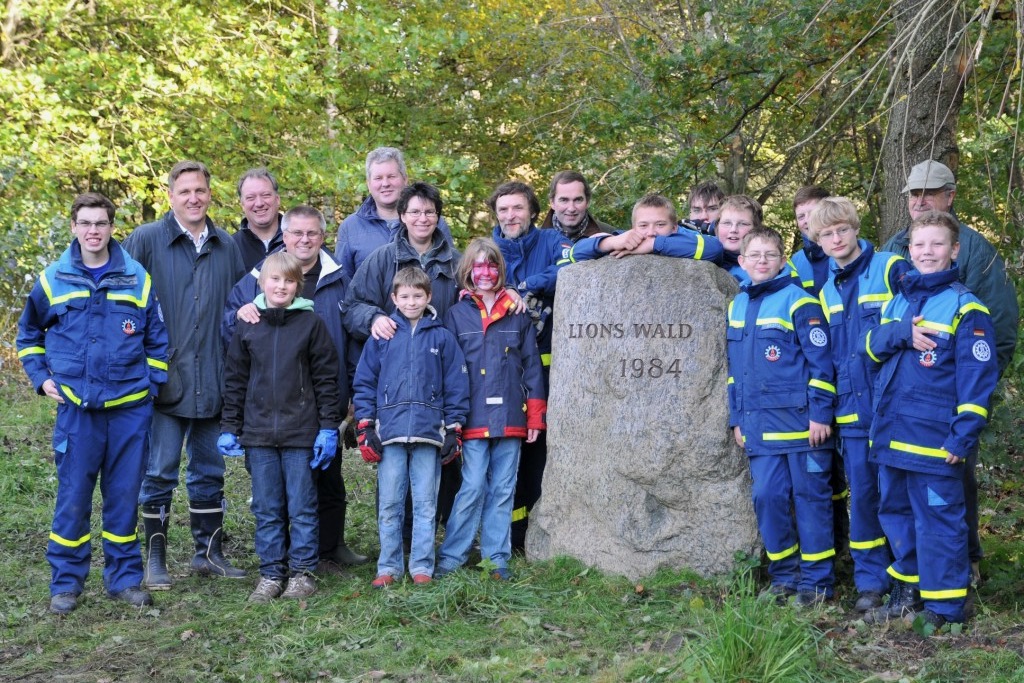
[[[139,493],[139,505],[171,505],[178,485],[181,443],[188,464],[185,487],[189,501],[217,501],[224,497],[224,458],[217,452],[220,421],[217,418],[179,418],[153,412],[150,463]]]

